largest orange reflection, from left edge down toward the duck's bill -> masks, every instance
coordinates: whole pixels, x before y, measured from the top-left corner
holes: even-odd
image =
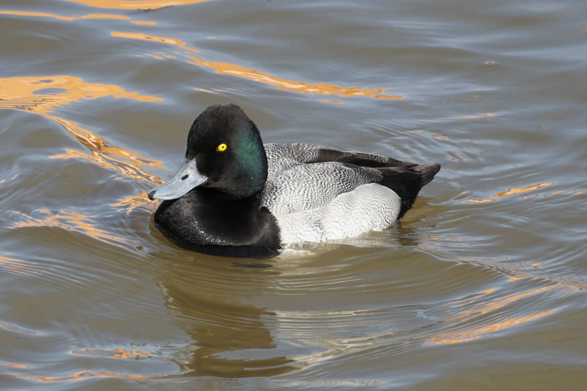
[[[32,111],[56,121],[90,152],[66,149],[65,154],[53,155],[51,158],[84,158],[105,168],[116,169],[129,178],[156,183],[158,177],[144,171],[143,167],[161,168],[160,161],[147,159],[133,151],[109,145],[102,137],[77,126],[73,121],[48,114],[58,106],[101,97],[129,98],[147,102],[162,100],[153,96],[129,92],[113,84],[86,83],[79,77],[73,76],[29,76],[0,79],[0,108]]]

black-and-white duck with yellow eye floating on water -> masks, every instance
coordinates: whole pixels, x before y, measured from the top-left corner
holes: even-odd
[[[389,229],[439,170],[320,145],[263,144],[241,107],[216,104],[191,125],[181,168],[148,196],[162,200],[154,227],[180,247],[271,257],[287,243]]]

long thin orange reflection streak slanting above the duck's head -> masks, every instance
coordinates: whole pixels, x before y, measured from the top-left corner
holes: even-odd
[[[161,36],[147,35],[143,33],[128,33],[128,32],[112,32],[112,36],[119,38],[130,38],[140,40],[155,40],[161,43],[167,43],[181,47],[181,49],[189,50],[190,52],[198,52],[185,45],[180,39],[167,38]],[[213,69],[216,73],[230,74],[232,76],[242,77],[259,83],[271,84],[282,90],[294,91],[296,93],[312,93],[319,95],[338,95],[344,97],[356,96],[370,96],[377,99],[400,99],[402,96],[384,95],[383,89],[365,89],[363,87],[339,87],[334,84],[327,83],[305,83],[304,81],[295,81],[280,79],[279,77],[271,76],[268,73],[259,72],[258,70],[242,67],[237,64],[210,62],[194,56],[185,56],[187,62],[197,66],[203,66]],[[332,101],[336,102],[336,101]]]

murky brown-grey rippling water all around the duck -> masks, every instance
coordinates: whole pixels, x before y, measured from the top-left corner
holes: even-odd
[[[585,389],[586,20],[571,0],[4,0],[0,388]],[[191,253],[146,192],[229,101],[265,142],[443,168],[389,232]]]

